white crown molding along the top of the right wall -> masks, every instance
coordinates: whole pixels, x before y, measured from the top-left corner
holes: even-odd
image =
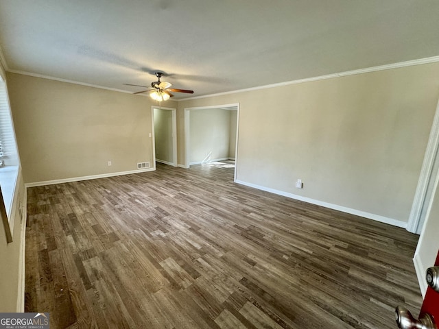
[[[334,77],[346,77],[348,75],[356,75],[356,74],[370,73],[370,72],[376,72],[376,71],[385,71],[385,70],[390,70],[390,69],[399,69],[401,67],[406,67],[406,66],[429,64],[429,63],[435,63],[435,62],[439,62],[439,56],[434,56],[434,57],[429,57],[429,58],[420,58],[418,60],[407,60],[405,62],[385,64],[385,65],[380,65],[380,66],[372,66],[372,67],[368,67],[366,69],[357,69],[357,70],[352,70],[352,71],[344,71],[344,72],[340,72],[340,73],[331,73],[331,74],[327,74],[327,75],[320,75],[318,77],[307,77],[305,79],[292,80],[292,81],[287,81],[287,82],[279,82],[277,84],[267,84],[265,86],[257,86],[257,87],[245,88],[245,89],[239,89],[239,90],[233,90],[233,91],[226,91],[224,93],[189,97],[189,98],[185,98],[185,99],[178,99],[177,101],[190,101],[192,99],[202,99],[202,98],[217,97],[217,96],[231,95],[231,94],[237,94],[237,93],[246,93],[248,91],[254,91],[254,90],[262,90],[262,89],[276,88],[276,87],[281,87],[281,86],[289,86],[292,84],[303,84],[305,82],[333,79]]]

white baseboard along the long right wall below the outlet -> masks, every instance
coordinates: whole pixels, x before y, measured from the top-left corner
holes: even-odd
[[[341,211],[341,212],[346,212],[346,213],[351,214],[351,215],[356,215],[356,216],[360,216],[360,217],[366,217],[368,219],[373,219],[374,221],[380,221],[381,223],[390,224],[392,226],[398,226],[399,228],[407,228],[407,222],[405,222],[405,221],[399,221],[397,219],[392,219],[392,218],[389,218],[389,217],[383,217],[381,215],[376,215],[376,214],[372,214],[370,212],[364,212],[364,211],[353,209],[353,208],[339,206],[337,204],[329,204],[328,202],[322,202],[322,201],[319,201],[319,200],[316,200],[316,199],[311,199],[309,197],[302,197],[301,195],[287,193],[287,192],[284,192],[284,191],[276,190],[274,188],[268,188],[268,187],[265,187],[265,186],[259,186],[257,184],[243,182],[241,180],[235,180],[235,182],[238,183],[238,184],[242,184],[242,185],[250,186],[250,187],[253,187],[253,188],[257,188],[258,190],[274,193],[274,194],[277,194],[277,195],[282,195],[284,197],[290,197],[292,199],[296,199],[296,200],[303,201],[303,202],[308,202],[309,204],[316,204],[317,206],[322,206],[322,207],[325,207],[325,208],[330,208],[330,209],[333,209],[333,210],[338,210],[338,211]]]

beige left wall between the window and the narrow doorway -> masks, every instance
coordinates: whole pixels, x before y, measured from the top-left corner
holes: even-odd
[[[25,183],[153,167],[149,97],[14,73],[8,88]]]

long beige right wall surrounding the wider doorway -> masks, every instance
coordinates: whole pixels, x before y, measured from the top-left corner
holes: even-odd
[[[405,225],[438,76],[439,63],[423,64],[181,101],[179,162],[184,108],[239,103],[238,181]]]

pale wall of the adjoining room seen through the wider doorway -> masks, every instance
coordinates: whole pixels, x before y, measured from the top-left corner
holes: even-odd
[[[219,108],[191,110],[189,162],[202,162],[210,152],[211,160],[228,158],[231,112]]]

